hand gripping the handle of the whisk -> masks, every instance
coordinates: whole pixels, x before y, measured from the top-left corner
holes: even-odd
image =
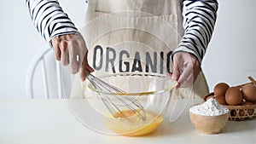
[[[71,72],[79,72],[82,81],[85,80],[88,71],[94,71],[88,64],[88,51],[81,35],[65,34],[53,37],[51,43],[55,50],[55,59],[61,60],[63,66],[70,64]]]

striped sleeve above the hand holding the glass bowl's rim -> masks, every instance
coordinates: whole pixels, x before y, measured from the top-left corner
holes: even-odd
[[[183,27],[185,32],[173,54],[178,51],[189,52],[195,55],[201,63],[212,37],[217,10],[217,0],[184,0]]]

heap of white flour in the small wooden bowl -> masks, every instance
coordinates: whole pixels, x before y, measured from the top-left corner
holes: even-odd
[[[190,107],[189,112],[203,116],[219,116],[228,113],[229,109],[220,105],[215,99],[210,98],[201,105]]]

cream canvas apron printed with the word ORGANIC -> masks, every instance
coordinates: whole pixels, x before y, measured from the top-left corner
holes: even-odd
[[[181,0],[90,0],[80,32],[96,76],[166,73],[172,72],[172,51],[183,37],[182,22]],[[87,91],[76,77],[71,97],[89,97]],[[202,97],[209,92],[202,72],[193,88],[174,91],[172,98]]]

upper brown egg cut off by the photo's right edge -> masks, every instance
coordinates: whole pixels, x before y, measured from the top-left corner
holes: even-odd
[[[256,101],[256,87],[253,84],[243,85],[241,93],[246,101]]]

